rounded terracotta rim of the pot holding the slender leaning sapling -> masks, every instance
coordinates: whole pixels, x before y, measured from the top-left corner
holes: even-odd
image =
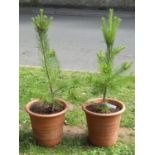
[[[63,113],[65,113],[67,110],[68,110],[68,102],[62,100],[62,99],[56,99],[58,101],[60,101],[64,106],[64,110],[58,112],[58,113],[55,113],[55,114],[38,114],[38,113],[35,113],[35,112],[32,112],[30,110],[30,107],[32,104],[36,103],[36,102],[40,102],[41,100],[40,99],[33,99],[32,101],[28,102],[25,106],[25,110],[27,113],[29,113],[31,116],[35,116],[35,117],[42,117],[42,118],[49,118],[49,117],[56,117],[58,115],[61,115]]]

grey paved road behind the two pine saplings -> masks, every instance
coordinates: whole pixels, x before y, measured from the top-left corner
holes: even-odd
[[[46,13],[54,17],[49,29],[50,46],[57,52],[58,59],[67,70],[97,70],[96,53],[105,47],[101,31],[101,10],[46,8]],[[40,66],[40,56],[31,17],[36,8],[20,8],[20,65]],[[116,12],[122,17],[116,45],[125,44],[126,50],[118,56],[115,65],[124,60],[134,63],[135,31],[134,13]],[[134,71],[134,65],[132,67]]]

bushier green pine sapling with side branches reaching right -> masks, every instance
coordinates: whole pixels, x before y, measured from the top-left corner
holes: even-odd
[[[124,46],[114,47],[114,41],[121,19],[113,15],[113,9],[109,10],[108,21],[102,17],[102,31],[106,42],[106,51],[100,50],[97,53],[99,74],[96,75],[95,87],[103,93],[103,99],[106,98],[107,90],[114,89],[120,82],[118,76],[128,70],[131,63],[124,62],[118,68],[114,68],[114,58],[124,50]]]

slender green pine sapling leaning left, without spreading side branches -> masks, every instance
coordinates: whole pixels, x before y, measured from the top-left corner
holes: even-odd
[[[46,74],[50,90],[50,99],[46,98],[46,100],[51,104],[54,104],[55,96],[59,90],[62,89],[63,83],[56,52],[54,49],[50,49],[48,44],[47,32],[51,23],[51,18],[44,14],[43,9],[40,9],[40,13],[32,18],[32,22],[35,25],[35,30],[37,32],[38,44],[42,54],[42,67]]]

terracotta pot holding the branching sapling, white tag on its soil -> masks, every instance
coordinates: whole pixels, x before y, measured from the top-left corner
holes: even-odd
[[[119,106],[121,110],[115,113],[101,114],[87,109],[87,106],[92,103],[102,103],[102,98],[89,100],[82,105],[87,119],[89,141],[96,146],[111,146],[116,143],[121,113],[125,110],[125,105],[121,101],[114,99],[106,99],[106,101]]]

